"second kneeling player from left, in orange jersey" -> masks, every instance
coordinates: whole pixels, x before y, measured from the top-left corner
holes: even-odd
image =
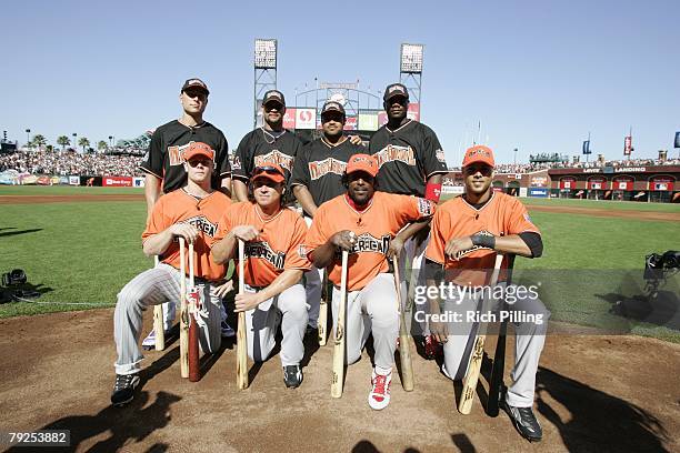
[[[289,389],[302,383],[300,361],[307,326],[304,286],[309,261],[300,252],[307,234],[304,220],[283,208],[286,175],[281,165],[262,162],[253,170],[250,198],[232,204],[220,220],[212,246],[218,263],[236,256],[238,240],[246,242],[246,293],[236,298],[236,311],[246,312],[248,355],[262,362],[276,344],[281,324],[281,364]],[[237,266],[239,269],[239,266]]]

